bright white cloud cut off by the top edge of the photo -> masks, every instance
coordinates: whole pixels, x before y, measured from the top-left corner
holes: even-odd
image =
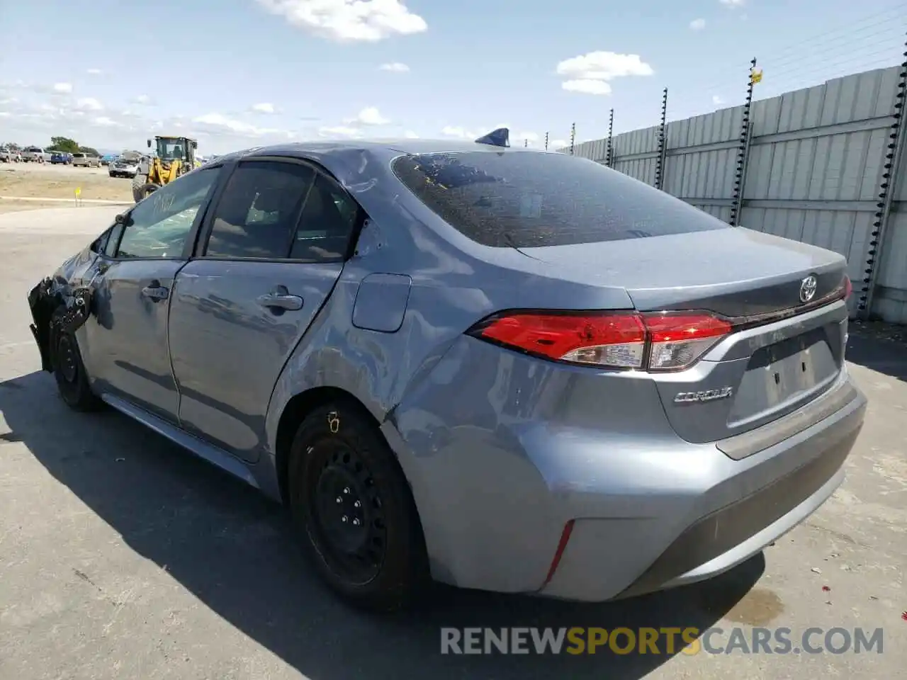
[[[400,0],[257,0],[289,24],[341,43],[423,33],[428,24]]]

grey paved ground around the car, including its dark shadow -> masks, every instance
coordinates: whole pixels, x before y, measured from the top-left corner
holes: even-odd
[[[0,677],[904,677],[902,343],[853,336],[850,369],[870,407],[847,481],[725,577],[594,606],[439,588],[421,612],[367,617],[327,595],[281,510],[117,413],[70,412],[40,373],[26,292],[115,212],[0,216],[0,248],[15,263],[0,286]],[[882,627],[884,638],[881,656],[440,654],[440,627],[504,626],[789,627],[795,638],[809,627]]]

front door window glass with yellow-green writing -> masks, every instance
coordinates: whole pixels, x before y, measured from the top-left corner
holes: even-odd
[[[181,257],[219,171],[190,172],[142,200],[129,214],[117,257]]]

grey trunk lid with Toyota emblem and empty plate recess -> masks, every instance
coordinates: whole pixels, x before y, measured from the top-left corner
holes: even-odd
[[[651,374],[668,420],[689,442],[792,413],[844,366],[847,307],[835,295],[846,260],[823,248],[727,228],[521,251],[623,287],[642,312],[702,310],[744,322],[687,370]]]

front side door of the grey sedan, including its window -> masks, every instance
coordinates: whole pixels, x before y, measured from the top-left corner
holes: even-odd
[[[171,288],[219,171],[186,175],[118,219],[93,273],[95,319],[84,339],[95,389],[172,423],[180,400],[168,353]]]

